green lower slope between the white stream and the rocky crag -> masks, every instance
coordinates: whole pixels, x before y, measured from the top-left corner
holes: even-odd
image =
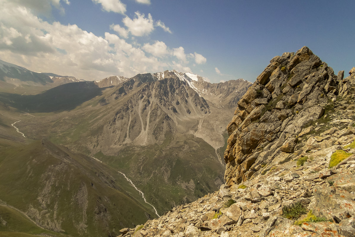
[[[223,167],[212,146],[193,135],[166,139],[162,145],[126,147],[118,156],[95,157],[124,172],[160,214],[175,205],[214,192]]]

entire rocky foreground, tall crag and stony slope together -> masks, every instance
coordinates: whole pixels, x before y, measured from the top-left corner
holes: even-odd
[[[355,68],[345,79],[343,74],[335,76],[306,47],[274,58],[229,125],[226,184],[159,219],[124,228],[120,236],[354,237]],[[251,116],[254,109],[261,111],[258,117]],[[317,116],[306,119],[314,109]],[[272,119],[275,113],[280,116]],[[269,140],[264,134],[245,141],[255,124],[280,129],[269,131]],[[256,144],[253,149],[243,147],[248,142]]]

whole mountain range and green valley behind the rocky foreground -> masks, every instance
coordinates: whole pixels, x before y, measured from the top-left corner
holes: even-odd
[[[80,81],[1,65],[7,211],[64,235],[115,236],[224,183],[225,128],[250,82],[175,70]]]

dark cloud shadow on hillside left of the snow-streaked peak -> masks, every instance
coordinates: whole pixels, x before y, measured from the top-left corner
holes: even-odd
[[[0,101],[26,112],[61,112],[75,109],[83,102],[102,95],[104,89],[93,81],[73,82],[37,95],[0,93]]]

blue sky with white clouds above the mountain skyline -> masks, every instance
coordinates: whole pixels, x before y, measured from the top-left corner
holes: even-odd
[[[254,82],[304,45],[355,66],[354,0],[0,0],[0,59],[84,80],[177,70]]]

